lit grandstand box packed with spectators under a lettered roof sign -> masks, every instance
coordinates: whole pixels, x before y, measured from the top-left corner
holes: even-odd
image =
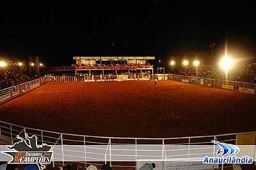
[[[150,71],[153,73],[153,66],[148,60],[155,57],[73,57],[76,60],[76,73],[78,71]]]

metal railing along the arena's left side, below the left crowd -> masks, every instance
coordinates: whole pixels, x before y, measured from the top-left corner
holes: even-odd
[[[0,104],[13,99],[14,97],[25,94],[26,92],[29,92],[40,85],[44,85],[48,81],[48,77],[43,77],[0,90]]]

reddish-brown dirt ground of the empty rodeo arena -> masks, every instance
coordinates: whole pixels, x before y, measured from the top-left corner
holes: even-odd
[[[256,131],[256,96],[176,81],[49,83],[1,105],[0,120],[93,136],[248,132]]]

